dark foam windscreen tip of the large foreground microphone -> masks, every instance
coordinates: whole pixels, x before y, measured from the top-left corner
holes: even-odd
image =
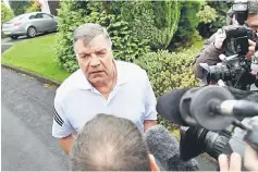
[[[189,89],[191,88],[176,89],[161,96],[157,101],[157,112],[165,120],[183,126],[188,126],[181,116],[180,100]]]

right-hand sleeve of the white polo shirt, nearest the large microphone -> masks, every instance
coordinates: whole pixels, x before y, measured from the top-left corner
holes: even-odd
[[[150,85],[147,73],[145,72],[145,118],[144,120],[157,120],[156,105],[157,100]]]

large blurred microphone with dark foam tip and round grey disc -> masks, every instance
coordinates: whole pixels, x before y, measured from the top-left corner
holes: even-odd
[[[258,105],[248,100],[234,100],[230,90],[213,85],[168,93],[158,99],[157,111],[164,119],[183,126],[221,131],[235,118],[243,120],[257,115]]]

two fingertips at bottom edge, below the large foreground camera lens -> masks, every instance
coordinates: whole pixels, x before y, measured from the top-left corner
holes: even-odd
[[[228,171],[241,171],[241,155],[233,152],[230,157],[230,162],[228,160],[228,157],[225,155],[219,156],[219,165],[221,172],[228,172]]]

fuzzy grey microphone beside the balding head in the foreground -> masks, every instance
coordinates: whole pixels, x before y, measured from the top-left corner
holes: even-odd
[[[161,171],[197,171],[196,160],[180,159],[180,146],[175,137],[162,125],[155,125],[144,134],[149,152],[153,155]]]

